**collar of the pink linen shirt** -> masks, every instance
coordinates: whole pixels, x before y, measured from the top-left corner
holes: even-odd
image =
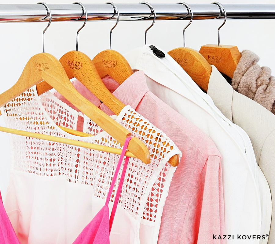
[[[108,84],[113,84],[110,82],[111,77],[108,77],[108,82],[106,78],[103,79],[104,84],[107,88]],[[113,92],[113,95],[123,102],[125,105],[130,105],[133,109],[136,109],[144,95],[149,91],[146,83],[146,78],[142,70],[135,72],[130,77],[128,77],[121,85],[119,85]],[[101,110],[105,113],[110,114],[110,109],[105,105],[100,105]],[[111,113],[113,114],[113,113]]]

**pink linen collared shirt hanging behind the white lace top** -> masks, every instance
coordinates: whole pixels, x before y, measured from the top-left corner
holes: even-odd
[[[143,71],[135,72],[121,85],[111,77],[103,82],[114,96],[162,130],[182,151],[165,201],[158,244],[226,243],[218,239],[224,235],[225,220],[221,155],[214,142],[150,92]],[[90,102],[108,115],[114,114],[79,81],[72,83]],[[54,95],[78,110],[59,93]],[[77,130],[83,130],[82,117]]]

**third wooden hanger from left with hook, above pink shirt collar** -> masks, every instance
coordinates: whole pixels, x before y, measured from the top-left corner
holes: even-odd
[[[133,74],[128,61],[117,51],[112,50],[112,30],[119,22],[119,10],[113,2],[106,2],[114,8],[114,16],[117,14],[115,26],[110,31],[110,49],[98,53],[93,58],[93,63],[101,78],[111,76],[119,84],[122,84],[128,77]]]

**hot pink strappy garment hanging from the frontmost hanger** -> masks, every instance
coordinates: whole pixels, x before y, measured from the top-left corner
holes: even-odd
[[[116,179],[119,173],[119,169],[122,164],[122,160],[125,156],[126,149],[132,137],[127,137],[119,157],[119,162],[116,167],[116,171],[107,195],[105,205],[97,213],[97,215],[92,219],[92,221],[83,229],[79,236],[75,239],[73,244],[110,244],[110,232],[112,229],[113,220],[116,214],[116,208],[119,202],[119,197],[121,194],[123,180],[126,174],[127,165],[129,162],[129,157],[126,157],[123,170],[121,173],[118,190],[116,193],[116,198],[112,208],[111,216],[109,218],[109,201],[111,195],[113,194],[113,188],[116,183]],[[9,221],[9,217],[4,209],[2,196],[0,192],[0,243],[1,244],[20,244],[17,236],[13,230],[13,227]]]

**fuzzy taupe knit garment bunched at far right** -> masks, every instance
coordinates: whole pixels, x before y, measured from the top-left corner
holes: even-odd
[[[275,77],[269,67],[260,67],[259,56],[244,50],[234,72],[232,87],[275,114]]]

